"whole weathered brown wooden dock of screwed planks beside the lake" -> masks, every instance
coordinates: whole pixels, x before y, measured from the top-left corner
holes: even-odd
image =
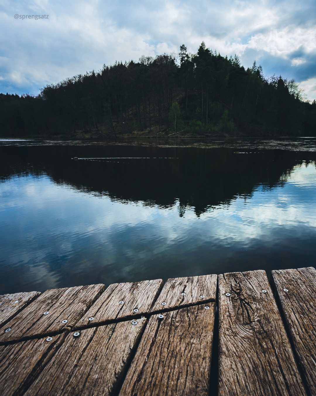
[[[2,295],[0,395],[316,395],[316,270]]]

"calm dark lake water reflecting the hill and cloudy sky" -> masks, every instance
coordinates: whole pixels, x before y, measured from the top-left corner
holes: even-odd
[[[2,139],[0,294],[314,266],[315,164],[312,138]]]

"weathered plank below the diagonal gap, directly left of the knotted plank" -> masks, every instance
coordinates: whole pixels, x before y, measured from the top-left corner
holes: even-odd
[[[209,394],[215,303],[150,317],[120,396]]]

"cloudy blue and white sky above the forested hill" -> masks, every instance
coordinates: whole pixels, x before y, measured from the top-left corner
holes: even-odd
[[[311,0],[0,0],[0,92],[38,95],[103,64],[177,54],[181,44],[196,53],[204,41],[246,68],[256,60],[265,76],[295,78],[312,101],[315,20]]]

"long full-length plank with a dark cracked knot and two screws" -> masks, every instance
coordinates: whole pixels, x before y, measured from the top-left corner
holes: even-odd
[[[218,287],[218,394],[306,395],[265,271],[219,275]]]

